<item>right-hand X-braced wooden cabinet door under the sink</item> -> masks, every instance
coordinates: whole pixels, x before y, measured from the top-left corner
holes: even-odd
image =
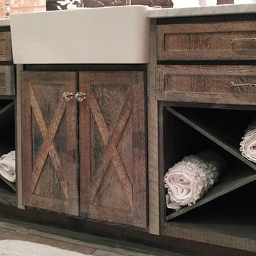
[[[80,211],[146,227],[145,95],[142,72],[81,72]]]

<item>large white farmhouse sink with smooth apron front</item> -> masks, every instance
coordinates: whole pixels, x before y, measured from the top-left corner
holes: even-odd
[[[147,6],[10,16],[14,63],[148,63]]]

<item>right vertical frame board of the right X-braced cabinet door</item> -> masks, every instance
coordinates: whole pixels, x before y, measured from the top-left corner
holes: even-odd
[[[133,170],[133,224],[146,227],[146,138],[145,131],[145,101],[144,75],[134,73],[132,83],[132,170]]]

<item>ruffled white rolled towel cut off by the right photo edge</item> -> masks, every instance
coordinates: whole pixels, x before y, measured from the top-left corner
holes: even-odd
[[[256,163],[256,122],[252,122],[240,142],[240,151],[246,159]]]

